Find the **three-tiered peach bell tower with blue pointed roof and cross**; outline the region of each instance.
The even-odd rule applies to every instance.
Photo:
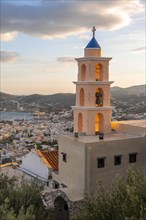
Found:
[[[74,111],[74,132],[86,135],[111,132],[109,61],[111,57],[101,56],[101,47],[93,37],[84,49],[84,57],[76,58],[78,62],[78,79],[76,85],[76,106]]]

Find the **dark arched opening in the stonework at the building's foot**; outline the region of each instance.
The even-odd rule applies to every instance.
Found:
[[[57,197],[54,201],[55,220],[69,220],[69,208],[67,202],[62,197]]]

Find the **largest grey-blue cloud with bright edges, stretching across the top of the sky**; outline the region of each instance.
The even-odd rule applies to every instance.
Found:
[[[4,36],[20,32],[40,38],[66,37],[85,33],[93,25],[97,30],[114,30],[129,25],[132,16],[144,10],[140,0],[35,2],[1,2]]]

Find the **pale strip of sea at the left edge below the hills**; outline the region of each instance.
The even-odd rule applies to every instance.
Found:
[[[33,116],[28,112],[4,112],[0,111],[0,121],[15,121],[15,120],[31,120]]]

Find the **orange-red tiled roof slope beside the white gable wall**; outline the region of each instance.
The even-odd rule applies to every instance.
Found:
[[[58,151],[35,151],[48,168],[58,170]]]

